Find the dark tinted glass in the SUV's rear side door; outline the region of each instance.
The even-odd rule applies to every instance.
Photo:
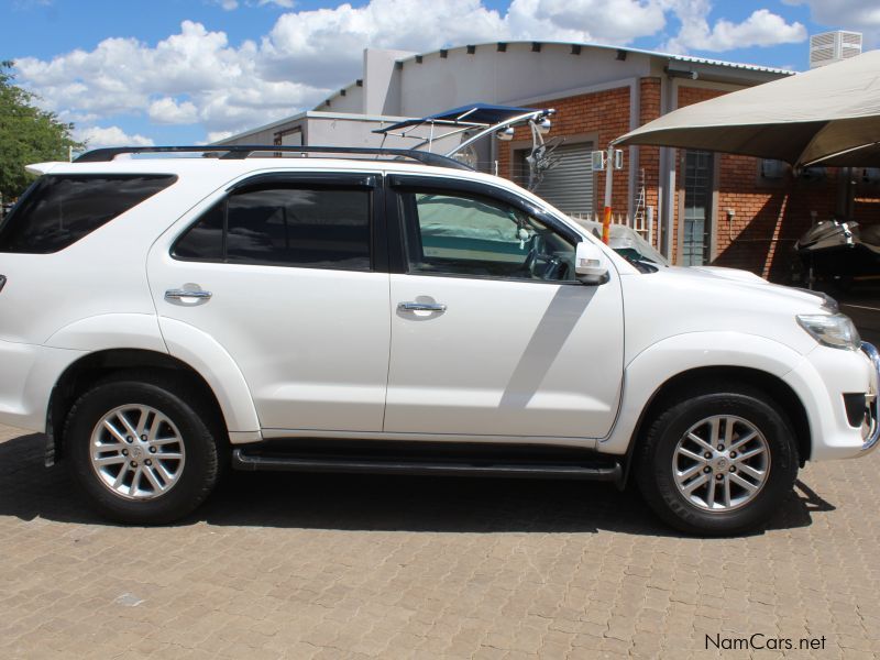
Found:
[[[174,248],[182,258],[370,268],[369,190],[262,187],[215,206]]]

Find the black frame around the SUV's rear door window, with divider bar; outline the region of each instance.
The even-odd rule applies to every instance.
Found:
[[[179,232],[176,233],[168,246],[168,256],[174,261],[193,262],[204,264],[223,264],[228,266],[260,266],[260,267],[276,267],[276,268],[308,268],[318,271],[344,271],[346,273],[375,273],[387,271],[387,242],[384,240],[385,233],[385,217],[382,212],[383,200],[383,186],[382,175],[375,172],[360,172],[360,173],[322,173],[322,172],[305,172],[305,173],[263,173],[249,176],[228,186],[223,190],[223,195],[213,200],[208,208],[202,210],[198,217],[187,222]],[[246,191],[249,188],[264,188],[277,185],[279,187],[288,187],[294,189],[314,189],[314,190],[365,190],[369,194],[367,211],[369,211],[369,228],[370,228],[370,266],[367,268],[343,268],[332,266],[316,266],[296,263],[280,263],[280,262],[244,262],[244,261],[230,261],[227,255],[227,238],[228,238],[228,207],[229,198],[237,194]],[[215,257],[197,257],[197,256],[179,256],[175,254],[175,249],[183,241],[189,231],[196,227],[201,220],[211,211],[217,208],[217,205],[223,204],[223,229],[222,229],[222,255],[220,258]]]

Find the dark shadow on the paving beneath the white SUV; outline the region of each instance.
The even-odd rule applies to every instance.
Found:
[[[0,516],[112,525],[98,517],[64,466],[43,466],[44,438],[0,443]],[[802,482],[771,529],[806,527],[834,510]],[[231,473],[178,525],[447,532],[595,532],[676,535],[634,488],[551,480]]]

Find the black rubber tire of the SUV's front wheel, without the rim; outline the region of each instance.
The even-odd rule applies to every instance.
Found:
[[[701,536],[741,534],[767,522],[791,492],[799,466],[792,427],[770,397],[745,384],[718,389],[692,388],[667,399],[649,420],[636,453],[636,479],[648,505],[672,527]],[[719,415],[741,418],[760,431],[769,448],[769,470],[757,495],[739,508],[707,510],[679,490],[673,461],[689,429]]]

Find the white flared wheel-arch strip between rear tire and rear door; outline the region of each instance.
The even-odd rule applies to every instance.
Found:
[[[260,440],[260,419],[251,391],[239,365],[226,349],[212,337],[188,323],[160,317],[158,324],[168,353],[199,372],[213,391],[223,411],[230,440],[233,443]]]

